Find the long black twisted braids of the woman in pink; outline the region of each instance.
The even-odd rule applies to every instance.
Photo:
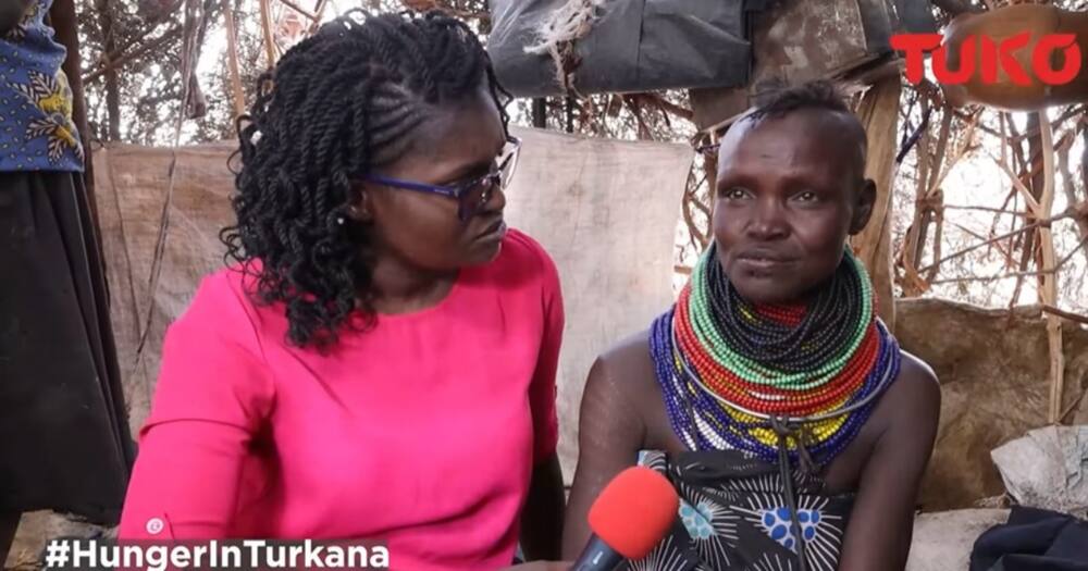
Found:
[[[356,310],[373,324],[373,238],[349,222],[351,181],[400,158],[436,107],[484,80],[505,129],[510,96],[468,26],[437,12],[361,10],[322,26],[258,79],[237,124],[237,224],[220,236],[228,259],[257,278],[258,300],[286,306],[288,343],[326,347]]]

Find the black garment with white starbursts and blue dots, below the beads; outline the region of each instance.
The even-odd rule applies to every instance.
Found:
[[[669,535],[631,571],[795,571],[801,569],[783,471],[738,450],[643,451],[639,464],[672,483],[680,513]],[[833,571],[852,494],[820,494],[820,479],[792,472],[796,523],[808,571]]]

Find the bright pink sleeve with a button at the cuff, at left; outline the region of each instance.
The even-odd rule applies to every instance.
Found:
[[[168,330],[162,355],[119,536],[227,537],[242,462],[273,390],[252,324],[225,281],[201,286]]]

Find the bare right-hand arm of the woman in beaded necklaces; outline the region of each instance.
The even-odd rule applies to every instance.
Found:
[[[940,386],[928,367],[904,356],[885,400],[891,419],[862,472],[840,571],[902,570],[911,550],[915,501],[937,437]]]

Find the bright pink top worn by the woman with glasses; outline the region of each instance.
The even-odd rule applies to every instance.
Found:
[[[119,535],[381,539],[393,569],[506,567],[555,452],[562,327],[552,259],[512,229],[438,305],[324,356],[220,271],[166,333]]]

